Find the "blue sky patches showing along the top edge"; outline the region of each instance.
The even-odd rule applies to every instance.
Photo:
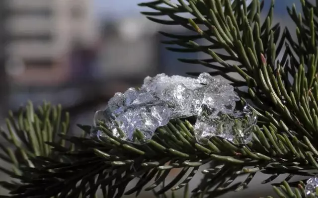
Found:
[[[95,10],[98,18],[100,17],[123,17],[129,15],[138,15],[145,8],[137,6],[137,3],[151,0],[94,0]],[[265,3],[270,0],[265,0]],[[287,15],[286,6],[293,2],[299,4],[300,0],[275,0],[275,14]],[[266,3],[268,4],[268,3]],[[300,11],[300,10],[299,10]]]

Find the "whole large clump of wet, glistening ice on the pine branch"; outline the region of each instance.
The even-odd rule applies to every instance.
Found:
[[[116,93],[106,109],[96,112],[94,123],[104,122],[114,136],[127,141],[136,142],[138,134],[138,142],[143,142],[171,119],[197,116],[194,132],[199,142],[218,135],[247,143],[256,117],[248,107],[234,111],[236,101],[234,87],[208,73],[198,78],[161,73],[146,77],[140,89]]]

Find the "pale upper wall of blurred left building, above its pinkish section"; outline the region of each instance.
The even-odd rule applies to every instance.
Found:
[[[82,12],[78,18],[72,16],[76,6]],[[12,13],[8,15],[5,28],[10,36],[48,33],[52,34],[52,39],[8,41],[7,55],[15,54],[21,59],[36,56],[57,59],[69,52],[74,39],[92,44],[96,39],[92,9],[92,0],[9,0],[8,10]],[[41,10],[51,10],[52,14],[36,14]],[[30,14],[32,11],[34,14]]]

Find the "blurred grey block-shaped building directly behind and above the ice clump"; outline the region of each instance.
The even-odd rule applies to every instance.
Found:
[[[156,27],[143,17],[108,21],[103,27],[96,77],[138,79],[156,73]]]

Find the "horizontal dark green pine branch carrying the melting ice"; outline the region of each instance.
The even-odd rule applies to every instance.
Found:
[[[92,130],[89,126],[79,127],[87,133]],[[76,145],[75,151],[49,143],[63,161],[30,157],[30,161],[38,166],[22,170],[32,177],[20,177],[21,183],[11,191],[11,197],[85,197],[95,195],[99,188],[107,198],[138,195],[143,189],[151,191],[160,187],[172,169],[181,168],[172,182],[156,191],[156,195],[160,195],[171,188],[183,188],[201,165],[212,161],[214,166],[203,171],[208,180],[192,193],[195,197],[202,196],[202,192],[217,197],[227,191],[244,189],[259,170],[271,175],[278,171],[304,175],[307,170],[316,169],[315,163],[310,165],[309,160],[318,151],[306,141],[306,137],[307,144],[304,144],[296,136],[289,138],[286,134],[278,134],[274,126],[269,129],[264,127],[265,133],[257,127],[253,143],[244,146],[218,137],[210,139],[207,145],[200,145],[195,140],[192,125],[181,120],[161,127],[152,140],[142,145],[114,137],[104,125],[98,130],[107,136],[97,142],[86,137],[60,135]],[[247,168],[250,166],[254,168]],[[243,174],[248,174],[246,181],[233,184],[234,179]],[[154,178],[155,182],[149,185]],[[139,179],[139,182],[125,191],[133,179]]]

